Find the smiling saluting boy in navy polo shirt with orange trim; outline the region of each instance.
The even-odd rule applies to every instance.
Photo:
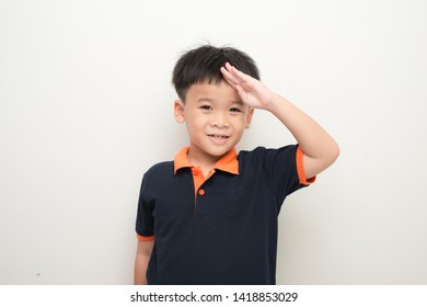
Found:
[[[281,204],[335,161],[336,143],[234,48],[187,52],[173,83],[189,146],[143,175],[135,284],[275,284]],[[238,156],[254,109],[275,115],[298,145]]]

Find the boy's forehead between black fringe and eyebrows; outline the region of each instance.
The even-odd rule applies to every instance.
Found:
[[[186,101],[242,103],[238,91],[226,81],[219,83],[201,82],[193,84],[187,91]]]

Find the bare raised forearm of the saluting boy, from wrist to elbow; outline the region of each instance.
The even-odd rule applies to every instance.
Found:
[[[335,140],[313,118],[287,99],[275,94],[270,111],[293,135],[307,158],[316,160],[314,175],[332,164],[339,155]]]

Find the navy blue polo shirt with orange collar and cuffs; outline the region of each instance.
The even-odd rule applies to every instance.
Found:
[[[187,151],[142,179],[136,231],[154,240],[148,283],[275,284],[281,204],[314,181],[305,179],[302,150],[233,149],[206,179]]]

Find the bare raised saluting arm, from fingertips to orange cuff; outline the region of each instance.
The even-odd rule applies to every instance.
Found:
[[[336,160],[339,155],[337,144],[309,115],[230,64],[226,64],[221,72],[243,103],[272,112],[289,129],[304,152],[302,160],[307,178],[319,174]]]

